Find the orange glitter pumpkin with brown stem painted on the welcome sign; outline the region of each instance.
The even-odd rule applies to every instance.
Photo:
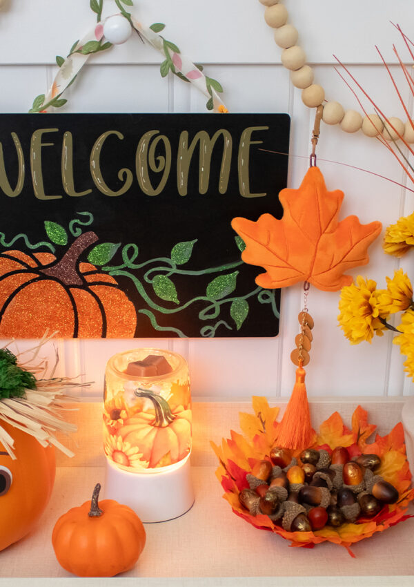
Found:
[[[0,338],[132,338],[137,313],[117,281],[79,256],[97,235],[81,234],[60,260],[52,253],[0,254]]]

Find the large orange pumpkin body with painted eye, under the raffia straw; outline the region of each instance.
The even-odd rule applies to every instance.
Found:
[[[0,443],[0,550],[26,536],[43,514],[55,482],[55,448],[1,422],[14,439],[14,454]]]

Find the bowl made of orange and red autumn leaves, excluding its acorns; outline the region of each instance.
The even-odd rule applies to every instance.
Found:
[[[230,439],[223,439],[221,447],[211,443],[217,458],[217,479],[224,489],[224,499],[230,503],[233,512],[260,530],[269,530],[290,540],[290,546],[313,548],[321,542],[332,542],[346,548],[351,556],[353,543],[371,537],[375,532],[383,532],[408,517],[408,503],[414,499],[411,489],[411,472],[406,458],[404,430],[398,423],[389,434],[376,434],[375,440],[368,443],[368,438],[375,432],[376,425],[368,423],[368,415],[358,406],[352,416],[351,430],[344,425],[338,412],[332,414],[315,433],[309,448],[324,449],[330,454],[337,446],[346,447],[351,458],[361,454],[377,454],[381,465],[375,474],[394,485],[399,493],[396,503],[384,504],[375,517],[359,517],[354,523],[346,522],[341,526],[324,526],[313,532],[288,532],[282,528],[280,521],[274,522],[267,515],[258,513],[253,516],[239,501],[239,493],[249,488],[248,474],[263,459],[270,461],[270,450],[275,445],[277,416],[279,407],[269,407],[266,398],[253,397],[255,414],[240,413],[242,434],[230,431]],[[300,451],[293,452],[298,456]]]

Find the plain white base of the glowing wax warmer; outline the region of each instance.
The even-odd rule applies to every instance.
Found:
[[[104,497],[129,506],[143,522],[162,522],[182,516],[193,506],[190,455],[145,473],[130,473],[106,461]]]

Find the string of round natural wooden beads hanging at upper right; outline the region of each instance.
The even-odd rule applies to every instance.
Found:
[[[259,0],[259,2],[266,6],[264,11],[266,23],[276,29],[274,34],[276,44],[284,49],[281,56],[282,64],[290,70],[293,86],[302,89],[302,102],[309,108],[319,106],[325,99],[324,88],[313,84],[313,69],[305,63],[304,50],[296,45],[298,32],[293,25],[286,24],[288,11],[283,4],[279,4],[279,0]],[[325,104],[322,119],[326,124],[340,124],[346,133],[356,133],[359,128],[362,128],[362,132],[367,137],[376,137],[382,133],[382,137],[387,141],[395,141],[402,136],[407,143],[414,143],[414,128],[409,120],[404,124],[397,117],[389,117],[384,125],[376,114],[362,117],[356,110],[344,112],[339,102]]]

